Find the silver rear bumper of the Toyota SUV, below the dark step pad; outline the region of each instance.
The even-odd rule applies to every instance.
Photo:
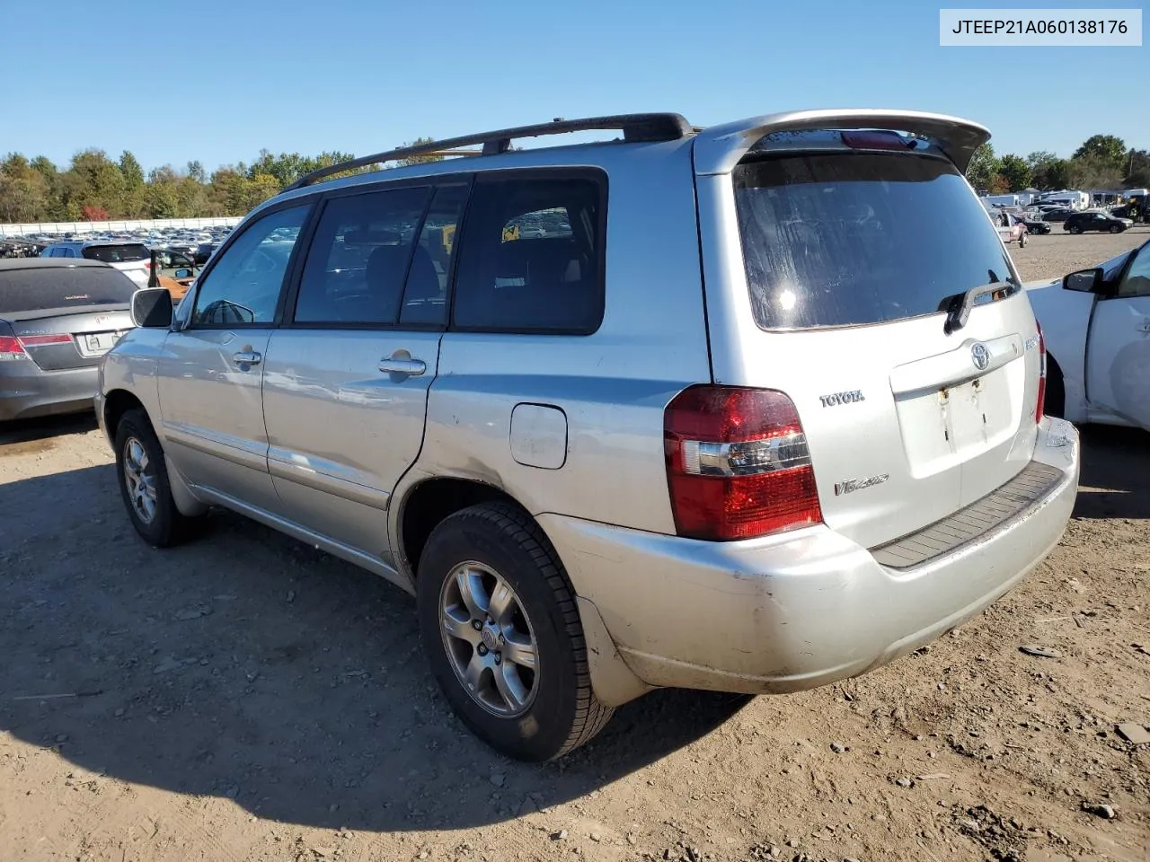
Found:
[[[1051,490],[987,534],[913,568],[826,526],[705,542],[557,515],[539,523],[582,600],[644,683],[787,692],[858,676],[974,616],[1053,548],[1078,492],[1072,425],[1044,420]]]

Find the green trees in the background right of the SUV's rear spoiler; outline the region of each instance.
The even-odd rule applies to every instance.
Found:
[[[966,178],[980,194],[1006,194],[1023,188],[1145,188],[1150,187],[1150,152],[1127,147],[1113,134],[1094,134],[1070,159],[1038,151],[1025,159],[1013,153],[995,155],[990,144],[979,147]]]

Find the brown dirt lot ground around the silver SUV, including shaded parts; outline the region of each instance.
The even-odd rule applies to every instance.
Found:
[[[1148,233],[1056,230],[1026,278]],[[227,513],[152,551],[110,461],[86,417],[0,431],[6,862],[1150,859],[1150,746],[1116,733],[1150,722],[1144,433],[1086,430],[1064,541],[952,637],[805,694],[657,692],[542,767],[450,715],[400,591]]]

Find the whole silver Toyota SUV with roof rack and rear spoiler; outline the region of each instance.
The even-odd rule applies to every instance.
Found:
[[[136,294],[97,399],[128,513],[166,546],[224,506],[409,591],[447,700],[515,757],[656,686],[864,674],[1006,592],[1074,503],[963,178],[988,137],[632,115],[317,171],[175,313]]]

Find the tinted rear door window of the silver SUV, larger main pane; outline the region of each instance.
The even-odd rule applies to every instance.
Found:
[[[296,301],[296,323],[393,324],[427,186],[334,198],[323,208]]]

